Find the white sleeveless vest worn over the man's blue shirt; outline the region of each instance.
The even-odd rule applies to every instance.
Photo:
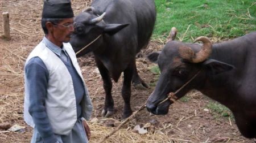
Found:
[[[79,73],[79,76],[84,83],[79,64],[77,63],[76,54],[73,51],[72,46],[69,43],[63,43],[63,48],[67,51],[73,66],[76,68],[77,73]],[[77,121],[75,91],[68,68],[61,59],[53,53],[53,51],[46,47],[43,42],[40,42],[40,44],[32,50],[26,60],[25,66],[28,60],[33,57],[39,57],[42,59],[49,72],[45,106],[53,132],[58,135],[68,135]],[[28,125],[34,127],[34,122],[28,112],[28,107],[30,106],[30,95],[28,94],[28,87],[26,83],[27,79],[25,77],[24,120]],[[85,83],[84,87],[86,96],[84,96],[81,101],[82,117],[89,120],[92,114],[92,102]]]

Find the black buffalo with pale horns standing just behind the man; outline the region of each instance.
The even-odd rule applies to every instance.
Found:
[[[156,19],[153,0],[94,0],[75,18],[71,45],[77,57],[93,52],[104,81],[106,94],[102,116],[114,114],[112,79],[117,82],[123,72],[123,118],[131,115],[131,81],[147,87],[139,77],[135,55],[146,47]],[[88,45],[86,49],[82,47]]]

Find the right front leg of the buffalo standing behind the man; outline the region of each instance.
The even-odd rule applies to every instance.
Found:
[[[133,77],[133,65],[129,65],[123,72],[122,97],[125,105],[123,107],[123,118],[128,118],[133,111],[131,110],[131,79]]]

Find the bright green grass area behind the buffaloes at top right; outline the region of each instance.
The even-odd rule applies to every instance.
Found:
[[[256,31],[255,0],[155,0],[155,3],[153,38],[168,36],[171,27],[178,30],[176,39],[187,42],[199,36],[227,39]]]

